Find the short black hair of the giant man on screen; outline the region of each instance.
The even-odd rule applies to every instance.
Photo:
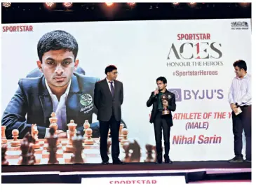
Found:
[[[37,54],[41,62],[45,52],[62,49],[72,51],[76,59],[79,45],[74,36],[63,30],[50,31],[44,34],[37,43]]]

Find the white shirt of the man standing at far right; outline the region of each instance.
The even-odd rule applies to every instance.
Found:
[[[229,103],[238,106],[252,105],[251,76],[246,73],[243,78],[235,77],[229,89]]]

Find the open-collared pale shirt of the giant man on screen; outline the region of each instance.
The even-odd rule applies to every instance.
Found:
[[[58,118],[57,124],[58,129],[62,130],[65,128],[67,124],[67,111],[66,111],[66,101],[67,101],[67,95],[69,94],[69,89],[71,85],[71,80],[69,81],[69,85],[67,86],[67,90],[62,96],[60,96],[60,101],[58,101],[58,98],[53,92],[50,90],[50,87],[46,81],[46,87],[50,94],[50,98],[53,102],[53,112],[55,112],[56,117]],[[46,128],[46,136],[48,135],[49,128]]]

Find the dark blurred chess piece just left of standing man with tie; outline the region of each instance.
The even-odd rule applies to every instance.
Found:
[[[75,164],[83,164],[83,136],[81,136],[80,131],[76,132],[76,135],[72,138],[74,155],[72,155],[71,162]]]

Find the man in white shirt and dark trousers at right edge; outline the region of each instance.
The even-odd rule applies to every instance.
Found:
[[[233,64],[236,77],[232,80],[229,90],[229,104],[232,112],[234,152],[235,157],[229,162],[243,162],[242,133],[245,132],[246,139],[246,159],[251,162],[251,131],[252,131],[252,88],[251,76],[247,73],[247,66],[243,60],[238,60]],[[238,114],[239,108],[241,113]]]

